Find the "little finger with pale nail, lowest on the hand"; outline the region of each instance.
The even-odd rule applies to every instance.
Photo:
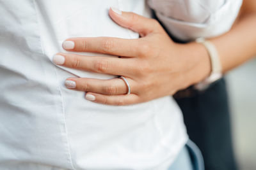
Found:
[[[101,104],[123,106],[128,104],[140,103],[140,97],[136,94],[107,96],[103,94],[86,93],[85,98],[89,101]]]

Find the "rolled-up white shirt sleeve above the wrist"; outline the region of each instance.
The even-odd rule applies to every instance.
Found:
[[[157,18],[175,38],[211,38],[230,30],[243,0],[147,0]]]

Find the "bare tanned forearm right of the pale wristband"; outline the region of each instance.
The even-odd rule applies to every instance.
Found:
[[[223,36],[210,39],[220,55],[223,73],[242,64],[256,54],[256,13],[241,16],[237,24]]]

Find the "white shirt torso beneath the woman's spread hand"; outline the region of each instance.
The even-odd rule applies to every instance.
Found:
[[[163,169],[185,145],[170,96],[107,106],[64,87],[70,76],[113,78],[55,66],[65,39],[138,38],[109,6],[146,11],[142,0],[0,0],[0,169]]]

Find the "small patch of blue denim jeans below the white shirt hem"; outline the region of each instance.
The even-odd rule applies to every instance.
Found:
[[[204,170],[204,159],[199,148],[192,141],[180,151],[168,170]]]

